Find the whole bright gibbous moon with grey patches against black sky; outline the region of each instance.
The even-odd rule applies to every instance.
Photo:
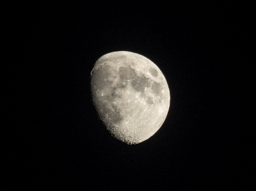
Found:
[[[93,105],[116,139],[138,144],[163,125],[170,90],[147,57],[127,51],[105,54],[93,66],[90,80]]]

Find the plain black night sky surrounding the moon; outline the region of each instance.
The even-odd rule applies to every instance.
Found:
[[[3,6],[9,186],[255,189],[252,4],[93,2]],[[156,63],[171,93],[163,126],[136,145],[111,137],[90,96],[95,61],[120,50]]]

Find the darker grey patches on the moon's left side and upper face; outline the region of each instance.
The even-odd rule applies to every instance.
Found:
[[[116,59],[121,59],[122,61],[127,60],[126,56],[116,56],[114,57],[114,59],[109,57],[108,59],[112,63],[115,63]],[[102,61],[106,61],[106,59]],[[149,72],[154,77],[158,76],[158,72],[154,68],[150,68]],[[120,78],[120,82],[115,84],[115,86],[113,86],[113,76],[115,77],[115,79],[118,77]],[[163,98],[163,94],[161,93],[161,89],[163,87],[161,83],[145,77],[144,74],[139,76],[136,73],[136,70],[134,70],[134,68],[132,68],[131,65],[129,64],[125,66],[120,66],[117,71],[112,66],[104,64],[98,65],[97,68],[93,68],[92,70],[91,91],[95,109],[100,119],[104,122],[104,125],[106,125],[106,127],[108,128],[108,130],[112,134],[114,134],[117,139],[127,143],[129,143],[129,140],[120,139],[120,134],[118,135],[118,133],[115,132],[115,130],[113,131],[111,129],[120,125],[120,123],[122,123],[122,121],[124,120],[124,116],[120,114],[121,109],[119,109],[118,107],[116,107],[116,105],[113,104],[113,101],[116,100],[116,98],[122,99],[122,94],[116,93],[116,90],[125,89],[129,85],[132,87],[132,89],[134,89],[134,91],[140,92],[141,95],[146,97],[148,105],[152,105],[154,104],[154,102],[150,96],[144,94],[146,87],[151,88],[154,95],[159,96],[159,100]],[[107,93],[106,95],[104,94],[104,96],[100,95],[100,93],[102,93],[102,90],[106,87],[108,87],[109,93]]]

